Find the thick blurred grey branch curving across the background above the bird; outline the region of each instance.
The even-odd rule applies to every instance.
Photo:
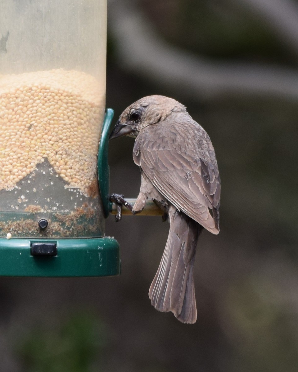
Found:
[[[118,61],[135,74],[195,99],[227,93],[298,99],[298,73],[294,69],[213,62],[172,47],[156,35],[133,1],[110,0],[109,16]]]

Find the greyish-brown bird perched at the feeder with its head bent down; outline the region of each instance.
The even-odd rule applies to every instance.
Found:
[[[148,96],[120,115],[110,139],[136,138],[133,160],[141,187],[133,212],[152,199],[169,217],[169,235],[149,289],[152,305],[183,323],[197,319],[193,266],[203,228],[218,234],[221,184],[206,131],[176,100]]]

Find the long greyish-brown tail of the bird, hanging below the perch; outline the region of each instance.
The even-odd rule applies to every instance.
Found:
[[[183,323],[197,320],[193,265],[202,226],[169,208],[169,236],[157,273],[149,289],[152,305],[159,311],[171,311]]]

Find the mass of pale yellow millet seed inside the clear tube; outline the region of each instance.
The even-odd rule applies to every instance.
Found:
[[[11,190],[47,158],[88,195],[104,115],[102,84],[71,70],[0,76],[0,190]]]

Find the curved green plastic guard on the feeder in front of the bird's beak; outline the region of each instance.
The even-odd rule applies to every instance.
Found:
[[[111,203],[109,200],[110,189],[110,167],[108,165],[108,143],[109,131],[114,116],[114,110],[107,109],[105,113],[104,123],[102,124],[101,139],[99,142],[97,170],[98,170],[98,183],[101,194],[102,205],[104,208],[104,216],[108,217],[111,210]]]

